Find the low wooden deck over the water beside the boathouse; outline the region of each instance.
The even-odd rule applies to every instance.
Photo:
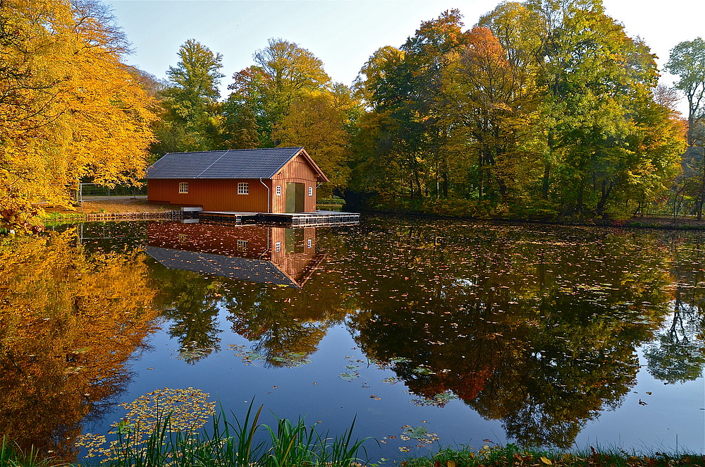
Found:
[[[316,211],[316,212],[232,212],[232,211],[202,211],[200,219],[214,219],[236,222],[274,222],[290,226],[330,226],[352,225],[360,222],[359,212]]]

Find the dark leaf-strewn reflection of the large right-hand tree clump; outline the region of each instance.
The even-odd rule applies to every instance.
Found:
[[[393,369],[415,394],[450,390],[520,444],[570,447],[635,384],[635,349],[673,298],[668,258],[617,231],[468,230],[409,228],[358,250],[396,252],[386,255],[396,267],[351,320],[357,342],[376,360],[403,358]]]

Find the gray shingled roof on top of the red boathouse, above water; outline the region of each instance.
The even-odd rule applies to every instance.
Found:
[[[169,152],[147,169],[147,178],[271,178],[302,149]]]

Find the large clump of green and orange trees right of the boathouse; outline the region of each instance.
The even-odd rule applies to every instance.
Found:
[[[446,11],[362,67],[350,186],[387,209],[628,216],[684,147],[657,79],[600,0],[503,3],[465,31]]]

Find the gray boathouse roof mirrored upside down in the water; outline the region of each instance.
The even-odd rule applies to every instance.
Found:
[[[250,260],[242,257],[228,257],[211,255],[209,253],[196,253],[171,248],[144,246],[145,253],[161,262],[169,269],[182,269],[184,271],[212,274],[214,276],[240,279],[261,284],[276,284],[300,289],[290,277],[271,261]]]

